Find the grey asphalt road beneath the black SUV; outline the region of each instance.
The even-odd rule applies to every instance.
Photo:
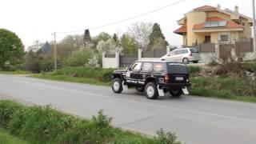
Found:
[[[186,144],[255,144],[256,104],[169,96],[149,100],[135,90],[114,94],[110,87],[0,74],[0,97],[90,118],[98,110],[114,118],[114,126],[155,134],[171,130]]]

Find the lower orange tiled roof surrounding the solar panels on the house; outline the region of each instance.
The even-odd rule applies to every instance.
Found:
[[[206,18],[206,22],[219,22],[219,21],[224,21],[222,18],[218,18],[218,17],[210,17],[210,18]],[[196,24],[193,26],[193,30],[202,30],[202,29],[209,29],[204,27],[205,26],[205,22],[204,23],[200,23],[200,24]],[[210,27],[210,29],[212,28],[225,28],[225,29],[235,29],[235,28],[242,28],[242,25],[239,25],[238,23],[232,22],[232,21],[226,21],[226,26],[222,26],[222,27]]]

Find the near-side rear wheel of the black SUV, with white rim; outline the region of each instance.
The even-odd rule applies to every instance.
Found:
[[[146,94],[146,98],[149,98],[149,99],[156,99],[156,98],[158,98],[158,89],[155,86],[154,82],[146,83],[145,94]]]

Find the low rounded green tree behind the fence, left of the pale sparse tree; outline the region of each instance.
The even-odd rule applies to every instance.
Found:
[[[133,37],[128,34],[123,34],[121,38],[122,52],[124,54],[137,54],[138,45]]]

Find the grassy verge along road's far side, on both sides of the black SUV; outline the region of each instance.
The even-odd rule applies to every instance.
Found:
[[[201,69],[197,66],[189,66],[190,73],[198,73]],[[56,72],[33,74],[31,77],[58,80],[64,82],[88,83],[98,86],[110,86],[113,69],[66,67]],[[248,78],[222,77],[195,77],[190,78],[192,86],[190,94],[209,98],[223,98],[242,102],[256,102],[253,95],[256,92],[256,84],[247,85]]]

